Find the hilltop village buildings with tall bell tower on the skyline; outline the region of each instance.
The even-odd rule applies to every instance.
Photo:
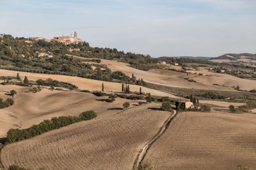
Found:
[[[65,45],[70,45],[70,44],[78,44],[78,43],[83,43],[83,40],[80,38],[77,38],[77,32],[74,32],[74,37],[72,36],[58,36],[58,37],[54,37],[53,39],[45,39],[45,38],[40,38],[40,37],[36,37],[33,38],[35,41],[38,40],[44,40],[47,42],[50,42],[52,40],[54,41],[58,41],[60,43],[64,43]]]

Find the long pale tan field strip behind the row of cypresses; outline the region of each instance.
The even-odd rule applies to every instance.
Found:
[[[0,75],[1,76],[16,76],[18,71],[10,71],[10,70],[4,70],[0,69]],[[76,76],[63,76],[63,75],[54,75],[54,74],[39,74],[39,73],[27,73],[27,72],[21,72],[19,71],[20,77],[22,80],[24,79],[24,76],[28,76],[28,80],[38,80],[43,79],[46,80],[47,78],[52,78],[53,80],[58,81],[64,81],[68,83],[75,84],[79,89],[82,90],[101,90],[101,85],[104,83],[104,90],[106,92],[122,92],[122,83],[113,83],[113,82],[107,82],[107,81],[99,81],[99,80],[92,80],[88,78],[79,78]],[[139,92],[140,86],[139,85],[129,85],[130,90],[132,92]],[[141,87],[142,91],[145,93],[150,92],[152,95],[155,96],[169,96],[173,98],[179,98],[176,96],[173,96],[172,94],[161,92],[154,89],[148,89],[146,87]]]

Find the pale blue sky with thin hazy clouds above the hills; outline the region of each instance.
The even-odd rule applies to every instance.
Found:
[[[0,0],[0,33],[161,56],[256,53],[255,0]]]

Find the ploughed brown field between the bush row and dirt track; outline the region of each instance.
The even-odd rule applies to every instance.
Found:
[[[152,103],[111,117],[96,118],[4,146],[5,167],[38,169],[132,169],[140,149],[159,131],[170,112]]]

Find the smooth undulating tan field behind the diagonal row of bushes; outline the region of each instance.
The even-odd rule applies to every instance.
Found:
[[[6,89],[14,89],[17,95],[14,96],[13,106],[3,108],[0,111],[0,138],[6,136],[11,128],[18,128],[20,122],[22,129],[33,124],[39,124],[45,119],[60,116],[79,115],[83,111],[96,111],[98,117],[107,117],[118,113],[123,108],[125,101],[131,100],[117,98],[113,103],[107,103],[104,99],[108,96],[97,97],[93,94],[74,91],[57,91],[43,89],[41,92],[26,92],[32,87],[19,87],[17,85],[0,85],[0,98],[3,98]],[[8,96],[12,98],[11,96]],[[138,104],[138,102],[131,103]]]

